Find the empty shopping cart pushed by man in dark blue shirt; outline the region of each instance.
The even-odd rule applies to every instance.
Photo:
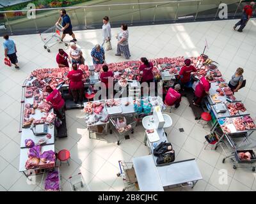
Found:
[[[63,31],[61,31],[63,27],[58,24],[50,27],[43,33],[40,33],[40,37],[44,43],[44,48],[47,49],[48,52],[51,52],[50,48],[57,43],[64,43],[61,41],[61,34]],[[68,43],[65,43],[65,46],[68,46]]]

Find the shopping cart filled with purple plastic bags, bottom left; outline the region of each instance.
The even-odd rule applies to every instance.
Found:
[[[41,188],[43,191],[61,191],[61,174],[60,168],[56,167],[52,170],[45,170]]]

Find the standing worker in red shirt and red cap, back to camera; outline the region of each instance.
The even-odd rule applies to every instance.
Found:
[[[196,72],[195,66],[191,65],[191,60],[186,59],[184,61],[185,66],[183,66],[180,69],[180,85],[182,87],[182,90],[184,90],[184,87],[189,87],[189,84],[191,82],[191,73]]]

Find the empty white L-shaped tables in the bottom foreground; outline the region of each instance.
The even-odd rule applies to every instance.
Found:
[[[192,182],[194,187],[202,175],[195,159],[178,161],[166,166],[156,166],[152,156],[132,159],[140,191],[163,191]]]

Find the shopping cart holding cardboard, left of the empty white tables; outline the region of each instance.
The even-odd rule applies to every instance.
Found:
[[[124,189],[123,191],[127,189],[134,189],[136,188],[137,190],[139,189],[138,182],[136,179],[136,173],[133,168],[133,163],[132,162],[125,162],[125,161],[118,161],[120,172],[117,173],[116,175],[118,177],[122,177],[123,182],[124,182]]]

